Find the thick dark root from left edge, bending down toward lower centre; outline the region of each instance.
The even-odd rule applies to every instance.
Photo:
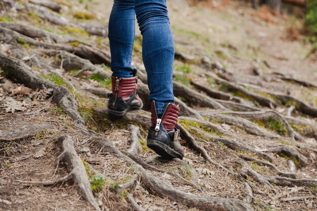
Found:
[[[5,72],[5,76],[13,81],[23,83],[31,89],[53,89],[53,101],[70,115],[77,123],[84,124],[85,121],[78,113],[77,102],[71,93],[63,86],[56,86],[51,81],[45,80],[32,72],[32,69],[18,59],[8,57],[0,51],[0,67]]]

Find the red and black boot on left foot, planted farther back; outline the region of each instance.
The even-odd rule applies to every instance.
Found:
[[[133,75],[136,74],[136,71]],[[111,76],[112,93],[109,94],[108,112],[123,116],[127,111],[141,109],[143,102],[136,94],[138,76],[118,78]]]

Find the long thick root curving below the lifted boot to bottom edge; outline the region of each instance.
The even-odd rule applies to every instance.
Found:
[[[221,210],[221,211],[251,211],[253,210],[249,204],[232,198],[216,198],[216,197],[204,197],[196,196],[191,193],[185,193],[179,190],[176,190],[171,185],[160,180],[159,178],[154,177],[150,173],[147,173],[141,165],[138,165],[133,160],[126,157],[115,146],[107,139],[93,139],[94,143],[100,148],[102,147],[104,151],[114,154],[117,157],[126,160],[130,164],[134,165],[138,171],[143,185],[150,190],[152,193],[155,193],[161,197],[168,197],[177,202],[183,203],[190,207],[196,207],[202,210]]]

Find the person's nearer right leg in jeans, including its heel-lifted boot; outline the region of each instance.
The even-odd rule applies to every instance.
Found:
[[[175,128],[179,107],[172,104],[174,41],[166,0],[134,0],[142,41],[142,57],[147,72],[152,126],[147,146],[164,158],[182,159],[184,150]]]

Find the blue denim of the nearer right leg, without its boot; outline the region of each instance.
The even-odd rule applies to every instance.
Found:
[[[166,0],[135,0],[135,13],[143,36],[142,57],[147,72],[150,101],[157,114],[174,101],[174,40]]]

